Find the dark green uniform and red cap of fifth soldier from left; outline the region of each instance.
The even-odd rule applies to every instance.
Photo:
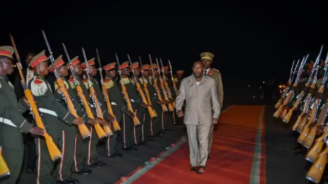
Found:
[[[92,59],[90,59],[90,60],[87,61],[89,66],[94,66],[95,65],[94,59],[95,58],[92,58]],[[86,67],[86,63],[85,62],[82,63],[81,66],[85,68]],[[89,75],[89,77],[90,77],[90,83],[91,83],[91,85],[93,85],[94,90],[96,91],[97,99],[99,101],[100,108],[101,108],[101,113],[103,113],[104,119],[107,120],[107,118],[109,116],[109,113],[107,111],[107,107],[106,107],[106,104],[105,104],[105,99],[104,99],[104,96],[103,96],[103,92],[101,91],[101,88],[99,87],[98,82],[92,76]],[[89,90],[90,86],[89,86],[89,82],[88,82],[88,78],[87,77],[83,80],[83,83],[86,86],[86,88]],[[89,100],[91,100],[91,98]],[[96,110],[94,109],[94,111],[96,111]],[[113,131],[113,128],[112,128],[112,131]],[[92,132],[92,135],[95,135],[95,134]],[[97,162],[97,144],[99,142],[99,139],[98,139],[97,136],[92,136],[92,135],[90,137],[90,143],[89,143],[89,147],[91,146],[91,148],[89,148],[90,149],[89,152],[91,154],[88,154],[88,156],[89,156],[89,158],[88,158],[88,165],[99,165],[99,164],[105,165],[104,163]],[[109,144],[108,141],[109,140],[107,139],[106,140],[106,142],[107,142],[106,145]],[[92,150],[92,152],[91,152],[91,150]]]

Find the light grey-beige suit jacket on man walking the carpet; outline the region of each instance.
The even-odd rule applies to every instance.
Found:
[[[175,99],[176,111],[181,110],[185,100],[185,124],[212,124],[212,118],[219,118],[221,108],[213,78],[203,76],[199,85],[194,75],[182,79]]]

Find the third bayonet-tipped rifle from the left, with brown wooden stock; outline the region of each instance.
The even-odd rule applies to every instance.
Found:
[[[68,55],[68,52],[67,52],[67,49],[66,49],[64,43],[63,43],[63,47],[64,47],[64,51],[65,51],[65,54],[66,54],[67,59],[69,61],[71,61],[70,56]],[[74,81],[76,93],[77,93],[77,96],[79,97],[80,103],[83,105],[83,107],[84,107],[84,109],[85,109],[85,111],[87,113],[87,116],[89,118],[91,118],[91,119],[95,119],[94,116],[93,116],[91,107],[90,107],[90,105],[88,103],[88,100],[87,100],[86,96],[83,93],[83,89],[81,88],[81,86],[77,82],[77,78],[76,78],[76,76],[74,74],[74,68],[73,68],[73,66],[71,65],[70,62],[69,62],[69,68],[70,68],[71,74],[73,76],[73,81]],[[105,133],[104,129],[101,128],[101,126],[99,124],[95,124],[95,125],[93,125],[93,127],[94,127],[94,129],[96,131],[96,134],[97,134],[99,140],[101,140],[104,137],[106,137],[106,133]]]

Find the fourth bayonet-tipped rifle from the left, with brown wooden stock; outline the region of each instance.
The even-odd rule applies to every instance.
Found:
[[[95,91],[95,89],[93,87],[93,84],[90,81],[90,76],[89,76],[89,63],[88,63],[88,60],[87,60],[86,52],[84,51],[83,48],[82,48],[82,52],[83,52],[84,60],[86,62],[86,66],[87,66],[86,73],[87,73],[87,79],[88,79],[88,84],[89,84],[89,88],[90,88],[91,99],[92,99],[93,105],[95,106],[97,117],[100,118],[100,119],[104,119],[104,117],[103,117],[103,111],[100,108],[99,101],[98,101],[98,98],[97,98],[97,95],[96,95],[96,91]],[[113,134],[111,128],[108,125],[104,125],[103,126],[103,129],[104,129],[105,134],[107,136],[110,136],[110,135]]]

